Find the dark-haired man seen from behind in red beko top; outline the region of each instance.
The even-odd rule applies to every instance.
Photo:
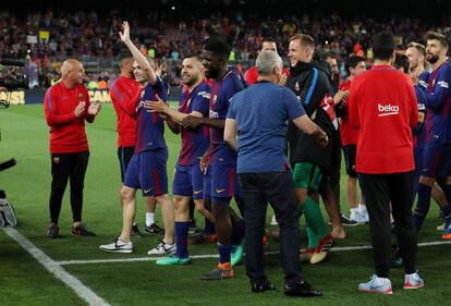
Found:
[[[416,272],[416,230],[412,220],[412,128],[418,123],[413,84],[395,71],[391,33],[374,37],[375,65],[351,84],[350,123],[359,130],[356,171],[369,215],[376,273],[359,291],[392,294],[389,277],[390,205],[404,264],[404,289],[424,286]]]

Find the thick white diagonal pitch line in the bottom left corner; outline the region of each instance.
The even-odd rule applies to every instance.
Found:
[[[84,285],[77,278],[65,271],[59,262],[51,259],[40,248],[34,245],[29,240],[24,237],[17,230],[13,228],[2,228],[3,231],[28,252],[40,265],[51,272],[57,279],[61,280],[65,285],[71,287],[83,298],[88,305],[109,306],[103,298],[95,294],[88,286]]]

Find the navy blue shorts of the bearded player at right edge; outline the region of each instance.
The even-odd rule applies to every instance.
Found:
[[[451,175],[451,145],[425,144],[422,175],[435,179]]]

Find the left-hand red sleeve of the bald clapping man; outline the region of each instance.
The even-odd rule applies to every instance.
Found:
[[[44,112],[46,114],[46,121],[49,126],[62,126],[71,123],[75,120],[75,112],[59,113],[58,106],[60,99],[58,95],[58,88],[56,86],[47,89],[46,97],[44,98]]]

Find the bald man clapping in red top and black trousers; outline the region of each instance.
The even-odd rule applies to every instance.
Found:
[[[50,225],[47,236],[58,237],[58,218],[68,180],[71,180],[72,234],[95,235],[82,224],[83,186],[89,159],[85,120],[94,122],[100,106],[89,102],[83,86],[85,72],[77,60],[64,61],[62,79],[50,87],[44,100],[47,124],[50,126],[51,193]]]

